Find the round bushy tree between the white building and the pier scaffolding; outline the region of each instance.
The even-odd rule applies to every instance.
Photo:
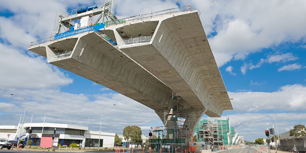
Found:
[[[124,136],[124,139],[126,141],[130,140],[131,143],[142,142],[142,131],[141,128],[138,126],[126,126],[123,129],[122,135]]]

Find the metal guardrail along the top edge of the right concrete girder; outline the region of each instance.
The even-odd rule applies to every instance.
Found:
[[[122,18],[122,19],[118,19],[118,20],[112,20],[112,21],[108,22],[109,23],[108,26],[117,25],[117,24],[129,22],[129,21],[145,20],[145,19],[150,19],[152,17],[158,17],[158,16],[167,15],[167,14],[175,14],[175,13],[178,13],[178,12],[186,12],[186,11],[191,11],[190,6],[170,8],[170,9],[166,9],[166,10],[163,10],[163,11],[141,14],[141,15],[126,17],[126,18]]]

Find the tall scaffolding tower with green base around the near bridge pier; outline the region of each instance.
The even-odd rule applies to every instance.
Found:
[[[151,127],[150,146],[155,151],[185,152],[190,146],[189,110],[182,103],[182,98],[172,92],[172,105],[164,110],[165,126]]]

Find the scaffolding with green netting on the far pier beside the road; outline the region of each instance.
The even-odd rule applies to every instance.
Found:
[[[205,142],[205,145],[224,146],[230,145],[229,118],[225,120],[202,120],[196,129],[197,141]]]

